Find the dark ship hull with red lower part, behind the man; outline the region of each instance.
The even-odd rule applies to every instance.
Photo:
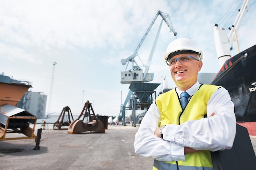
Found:
[[[236,121],[256,136],[256,45],[227,60],[211,84],[229,91]]]

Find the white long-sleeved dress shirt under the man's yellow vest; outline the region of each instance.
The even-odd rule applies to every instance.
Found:
[[[198,91],[197,82],[186,92]],[[183,91],[176,88],[178,95]],[[214,116],[210,115],[215,113]],[[193,114],[193,113],[191,113]],[[234,104],[228,91],[221,87],[213,93],[207,104],[207,118],[186,121],[184,124],[166,125],[163,139],[154,135],[161,122],[161,113],[155,102],[151,104],[135,135],[135,152],[158,161],[185,161],[184,147],[195,150],[230,149],[236,135]]]

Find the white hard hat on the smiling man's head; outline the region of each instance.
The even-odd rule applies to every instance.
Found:
[[[164,55],[164,62],[169,59],[171,59],[173,56],[182,54],[182,53],[193,53],[196,52],[199,54],[200,60],[203,59],[203,53],[198,49],[197,46],[195,46],[195,43],[187,38],[179,38],[171,42],[167,49],[166,54]]]

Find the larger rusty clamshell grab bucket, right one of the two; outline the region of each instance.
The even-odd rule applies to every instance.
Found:
[[[83,119],[79,120],[82,116]],[[101,120],[97,119],[92,104],[89,101],[83,106],[79,117],[70,124],[67,133],[78,134],[87,131],[105,133],[104,125]]]

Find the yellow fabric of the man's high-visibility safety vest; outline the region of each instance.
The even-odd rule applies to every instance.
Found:
[[[183,124],[189,120],[199,120],[203,118],[204,115],[207,114],[207,103],[211,95],[218,88],[220,88],[220,86],[202,85],[191,97],[189,104],[186,106],[183,112],[175,89],[159,95],[156,98],[156,104],[161,112],[160,126],[165,126],[167,124]],[[176,166],[176,161],[166,163]],[[164,163],[161,163],[160,165],[162,164]],[[208,167],[212,170],[213,167],[211,162],[211,154],[208,150],[187,154],[186,161],[178,161],[178,165],[179,167],[182,166],[182,169],[188,170],[191,170],[192,167]],[[163,167],[160,169],[162,168]]]

